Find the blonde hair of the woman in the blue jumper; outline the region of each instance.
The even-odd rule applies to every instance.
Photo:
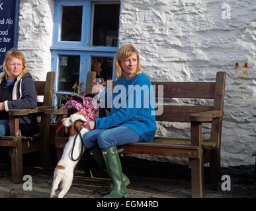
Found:
[[[122,67],[120,65],[121,61],[124,61],[125,59],[130,57],[132,55],[132,53],[137,54],[137,67],[136,67],[136,71],[134,72],[133,76],[138,75],[138,73],[140,73],[140,71],[142,71],[142,67],[140,67],[140,57],[139,57],[138,50],[131,44],[123,45],[116,52],[116,58],[115,58],[116,78],[122,77],[122,74],[123,74]]]

